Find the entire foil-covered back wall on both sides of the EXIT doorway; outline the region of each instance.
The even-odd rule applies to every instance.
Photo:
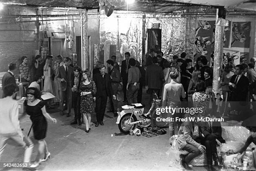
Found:
[[[110,45],[115,45],[115,55],[119,63],[124,60],[125,52],[130,52],[131,58],[141,62],[142,15],[120,13],[114,12],[110,17],[100,15],[100,46],[104,47],[104,61],[102,62],[105,63],[113,55]],[[164,58],[171,60],[173,55],[180,55],[185,51],[187,58],[192,59],[196,23],[194,18],[168,18],[166,16],[153,18],[152,15],[146,15],[145,33],[147,29],[152,28],[152,23],[161,24],[161,51],[164,52]],[[188,34],[186,34],[186,23],[188,23]]]

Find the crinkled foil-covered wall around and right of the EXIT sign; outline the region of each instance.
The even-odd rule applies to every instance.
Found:
[[[151,28],[152,23],[161,24],[161,51],[168,60],[173,55],[187,53],[187,58],[192,58],[195,40],[195,19],[193,18],[148,18],[146,29]],[[186,34],[186,23],[188,33]]]

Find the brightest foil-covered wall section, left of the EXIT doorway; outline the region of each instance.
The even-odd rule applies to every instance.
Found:
[[[101,15],[100,45],[104,45],[104,63],[112,55],[116,55],[120,63],[125,52],[130,52],[131,58],[141,61],[142,19],[127,15],[112,18]]]

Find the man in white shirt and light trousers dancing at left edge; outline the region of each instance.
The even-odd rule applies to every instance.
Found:
[[[6,97],[0,99],[0,158],[7,140],[13,139],[25,149],[23,162],[29,163],[33,152],[33,143],[29,138],[24,137],[20,129],[18,102],[13,100],[13,96],[16,93],[15,88],[15,84],[5,86]]]

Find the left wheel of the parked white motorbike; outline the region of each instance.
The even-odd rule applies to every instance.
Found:
[[[136,121],[134,116],[131,117],[131,113],[125,114],[121,119],[120,122],[118,123],[118,128],[122,133],[129,133],[131,129],[135,128],[136,124],[130,125],[128,124],[131,118],[131,122]]]

